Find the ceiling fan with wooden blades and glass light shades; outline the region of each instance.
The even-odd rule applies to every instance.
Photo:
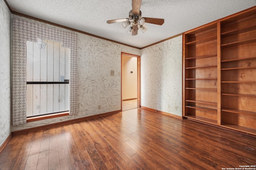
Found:
[[[132,35],[138,34],[138,25],[140,26],[140,30],[142,33],[147,31],[147,28],[144,26],[144,23],[153,23],[157,25],[163,25],[164,19],[162,18],[146,18],[141,17],[141,6],[142,0],[132,0],[132,10],[129,12],[129,18],[116,19],[116,20],[108,20],[107,23],[117,23],[122,22],[122,26],[126,28],[128,25],[132,23],[132,26],[128,29],[127,33]]]

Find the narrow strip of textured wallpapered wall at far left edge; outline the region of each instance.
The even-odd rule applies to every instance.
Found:
[[[0,146],[10,135],[10,10],[0,0]]]

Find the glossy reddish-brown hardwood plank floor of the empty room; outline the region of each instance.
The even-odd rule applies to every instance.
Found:
[[[132,109],[13,136],[1,170],[219,169],[256,164],[256,137]]]

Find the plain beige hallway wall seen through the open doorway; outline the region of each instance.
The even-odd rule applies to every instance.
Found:
[[[122,100],[137,98],[137,57],[122,57]]]

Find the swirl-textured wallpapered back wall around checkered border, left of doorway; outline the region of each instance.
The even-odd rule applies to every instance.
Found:
[[[47,25],[20,16],[15,17]],[[58,28],[52,25],[47,26]],[[121,109],[121,52],[140,55],[140,50],[82,33],[76,34],[78,35],[78,113],[12,126],[12,131]],[[110,70],[114,70],[114,76],[110,76]],[[100,109],[98,105],[101,106]]]

